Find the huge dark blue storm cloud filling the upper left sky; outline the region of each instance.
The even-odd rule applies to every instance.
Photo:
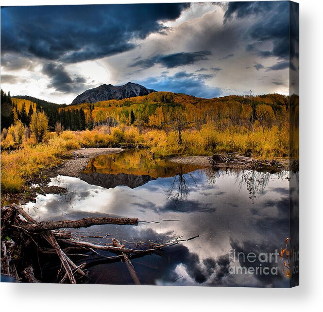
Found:
[[[1,8],[1,53],[80,62],[133,49],[189,3]]]

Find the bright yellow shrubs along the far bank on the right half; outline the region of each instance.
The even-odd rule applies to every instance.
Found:
[[[272,127],[255,133],[218,131],[212,125],[204,125],[200,131],[186,130],[182,134],[183,145],[179,146],[175,134],[164,130],[149,131],[144,144],[156,156],[210,156],[215,153],[239,152],[255,158],[276,158],[289,155],[289,132]]]

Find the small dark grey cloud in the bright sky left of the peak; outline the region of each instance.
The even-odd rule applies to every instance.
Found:
[[[71,76],[63,65],[48,63],[43,66],[42,72],[47,75],[51,82],[48,85],[50,88],[55,88],[56,91],[63,93],[78,92],[86,87],[86,79],[82,76]]]

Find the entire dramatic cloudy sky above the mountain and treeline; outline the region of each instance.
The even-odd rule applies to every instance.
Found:
[[[297,59],[288,1],[1,7],[1,88],[54,103],[128,81],[205,98],[288,94]]]

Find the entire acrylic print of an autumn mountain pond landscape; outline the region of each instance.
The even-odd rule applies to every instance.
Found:
[[[290,1],[1,7],[1,281],[298,285],[298,59]]]

